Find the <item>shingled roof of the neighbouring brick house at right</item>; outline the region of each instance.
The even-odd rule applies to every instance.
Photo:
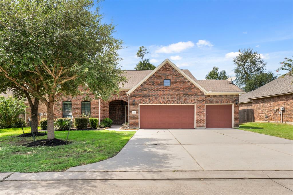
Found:
[[[293,93],[292,81],[293,77],[288,74],[286,74],[285,76],[280,76],[279,78],[276,78],[270,83],[267,83],[261,86],[260,88],[252,91],[253,93],[250,93],[247,98],[258,99],[281,94]]]

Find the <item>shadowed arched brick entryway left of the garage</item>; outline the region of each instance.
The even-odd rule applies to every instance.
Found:
[[[121,125],[128,121],[128,104],[123,100],[113,100],[109,102],[109,118],[113,120],[113,125]]]

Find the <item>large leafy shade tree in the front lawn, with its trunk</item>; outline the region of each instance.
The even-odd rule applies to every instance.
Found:
[[[126,78],[118,66],[122,41],[88,0],[0,1],[0,75],[47,106],[54,138],[57,93],[83,85],[108,98]]]

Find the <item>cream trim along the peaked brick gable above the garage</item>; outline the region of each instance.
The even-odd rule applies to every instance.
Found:
[[[139,83],[137,83],[133,88],[131,88],[127,94],[132,93],[136,88],[138,88],[142,83],[144,83],[144,81],[146,81],[149,77],[151,77],[156,71],[158,71],[163,65],[165,65],[168,62],[168,64],[170,64],[174,69],[176,69],[179,73],[181,73],[185,78],[187,78],[191,83],[193,83],[195,86],[197,86],[197,88],[199,88],[200,90],[202,90],[202,92],[204,93],[208,93],[207,90],[205,90],[202,86],[200,86],[198,83],[196,83],[194,80],[195,78],[191,78],[190,76],[188,76],[188,74],[186,74],[185,72],[183,72],[181,69],[178,68],[178,66],[176,66],[175,64],[173,64],[173,62],[171,62],[169,59],[165,59],[159,66],[157,66],[153,71],[151,71],[146,77],[144,77],[144,79],[142,79]],[[189,71],[188,71],[189,72]],[[191,74],[191,73],[190,73]]]

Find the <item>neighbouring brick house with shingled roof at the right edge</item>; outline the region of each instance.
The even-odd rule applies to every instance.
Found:
[[[293,77],[279,77],[260,88],[239,96],[239,110],[252,108],[253,119],[265,122],[268,116],[271,122],[293,123]],[[284,107],[281,110],[280,107]]]

